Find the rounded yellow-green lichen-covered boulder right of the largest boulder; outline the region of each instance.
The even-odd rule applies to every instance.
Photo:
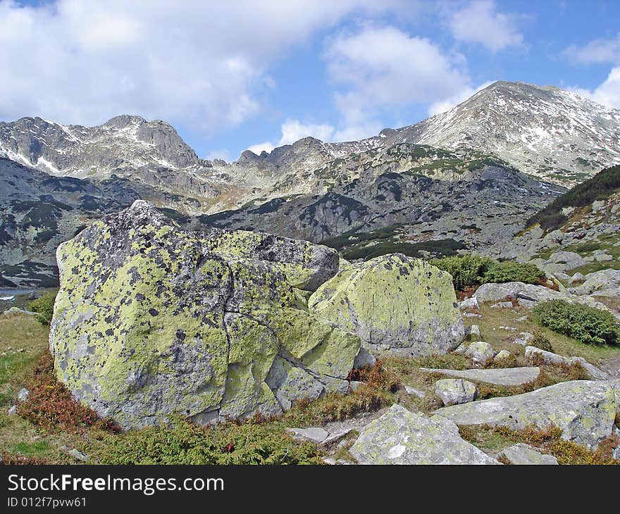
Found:
[[[342,268],[308,304],[380,354],[447,353],[464,339],[450,275],[402,253]]]

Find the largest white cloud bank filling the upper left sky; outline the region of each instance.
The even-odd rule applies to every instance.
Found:
[[[399,0],[0,1],[0,119],[119,113],[212,132],[255,115],[268,67],[347,15]]]

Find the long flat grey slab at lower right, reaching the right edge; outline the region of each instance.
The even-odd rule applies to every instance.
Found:
[[[435,414],[457,425],[504,426],[513,430],[528,425],[540,429],[555,425],[562,430],[563,439],[594,447],[612,434],[618,408],[612,384],[574,380],[516,396],[443,407]]]

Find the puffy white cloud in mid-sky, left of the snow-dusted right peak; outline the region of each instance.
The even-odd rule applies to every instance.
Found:
[[[393,26],[337,35],[324,58],[330,79],[342,87],[334,97],[342,113],[340,139],[376,134],[383,108],[445,101],[470,82],[461,56]]]

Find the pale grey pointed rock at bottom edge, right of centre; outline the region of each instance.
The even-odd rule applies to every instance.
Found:
[[[361,464],[498,464],[459,435],[453,422],[393,405],[349,450]]]

